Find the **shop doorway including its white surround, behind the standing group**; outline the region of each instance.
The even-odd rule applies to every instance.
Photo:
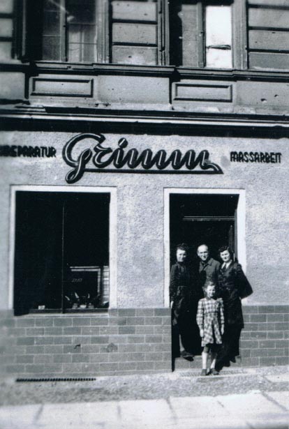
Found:
[[[165,283],[170,283],[170,267],[175,263],[175,250],[179,243],[187,244],[193,271],[198,270],[198,246],[204,243],[214,259],[218,260],[218,248],[226,244],[232,248],[235,257],[240,256],[243,262],[243,209],[243,190],[165,190]],[[169,240],[166,239],[168,237]],[[169,295],[168,289],[166,293]],[[188,326],[187,347],[194,354],[200,354],[200,335],[195,324],[195,314],[191,315],[191,319],[188,317],[188,321],[192,326]],[[172,337],[172,361],[178,356],[176,345],[177,341]]]

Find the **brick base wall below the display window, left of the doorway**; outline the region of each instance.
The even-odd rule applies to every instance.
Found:
[[[170,310],[2,315],[1,371],[12,377],[95,377],[170,371]]]

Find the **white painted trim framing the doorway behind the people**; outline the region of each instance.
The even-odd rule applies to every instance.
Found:
[[[220,188],[164,188],[164,306],[170,306],[170,195],[171,194],[221,194],[239,195],[237,205],[237,250],[238,260],[246,273],[246,191],[244,189]]]

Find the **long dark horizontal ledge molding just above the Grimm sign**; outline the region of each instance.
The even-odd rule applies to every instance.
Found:
[[[254,130],[259,128],[260,130],[265,130],[269,128],[274,128],[275,133],[278,130],[285,130],[289,128],[289,121],[283,115],[279,114],[178,114],[178,112],[165,111],[165,112],[138,112],[138,111],[124,111],[120,110],[97,110],[97,109],[71,109],[63,108],[57,109],[57,107],[49,107],[45,109],[42,107],[38,109],[37,107],[28,107],[19,106],[17,109],[0,109],[0,118],[5,119],[1,121],[1,128],[10,128],[14,127],[17,124],[17,129],[21,129],[26,123],[26,127],[29,127],[31,123],[32,128],[36,126],[36,122],[41,124],[43,127],[45,122],[54,121],[54,125],[57,126],[57,123],[66,123],[69,124],[69,127],[75,126],[75,123],[87,123],[87,121],[102,124],[105,126],[110,124],[110,126],[128,126],[128,124],[138,123],[138,126],[154,127],[170,127],[170,126],[180,126],[180,127],[207,127],[218,126],[221,127],[231,127],[231,128],[251,128],[254,127]],[[9,125],[10,124],[10,125]],[[77,127],[79,127],[78,125]],[[276,128],[278,127],[278,129]],[[51,128],[51,123],[50,127]],[[216,133],[216,129],[215,129]],[[269,137],[269,136],[268,136]]]

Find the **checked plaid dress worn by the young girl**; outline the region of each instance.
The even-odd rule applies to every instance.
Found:
[[[198,303],[197,323],[204,330],[202,347],[221,344],[221,326],[224,324],[223,299],[203,298]]]

